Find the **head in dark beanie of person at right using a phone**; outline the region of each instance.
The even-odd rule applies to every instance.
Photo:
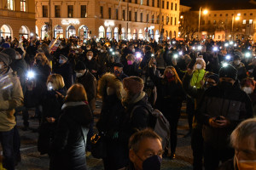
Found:
[[[237,78],[236,68],[232,65],[224,66],[218,71],[218,77],[220,84],[228,87],[233,86]]]

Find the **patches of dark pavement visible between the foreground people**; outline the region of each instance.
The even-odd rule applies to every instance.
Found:
[[[100,112],[101,104],[98,103],[98,109],[96,109],[96,117]],[[30,115],[33,111],[30,111]],[[49,169],[49,157],[47,155],[40,156],[37,150],[38,133],[32,133],[32,130],[22,131],[21,116],[18,116],[18,127],[20,129],[21,139],[21,157],[22,161],[16,167],[17,170],[47,170]],[[37,128],[38,120],[30,120],[30,127]],[[163,159],[163,170],[190,170],[192,169],[192,150],[190,147],[190,137],[184,138],[184,134],[188,133],[187,116],[184,114],[184,107],[181,118],[178,122],[178,139],[177,139],[177,151],[175,160],[168,158]],[[93,157],[87,158],[87,166],[89,170],[103,170],[102,160],[95,159]]]

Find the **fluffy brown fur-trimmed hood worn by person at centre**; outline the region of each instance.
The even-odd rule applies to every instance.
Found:
[[[123,83],[119,81],[115,75],[112,73],[106,73],[98,82],[98,94],[104,98],[104,95],[107,94],[107,88],[113,88],[119,99],[122,99],[121,91],[123,88]]]

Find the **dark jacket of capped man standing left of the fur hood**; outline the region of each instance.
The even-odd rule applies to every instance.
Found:
[[[76,82],[84,86],[91,111],[96,108],[96,78],[86,70],[84,76],[77,77]]]

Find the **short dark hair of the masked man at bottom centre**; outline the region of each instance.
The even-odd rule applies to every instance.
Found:
[[[129,140],[129,149],[134,150],[135,153],[139,150],[140,143],[143,139],[159,139],[160,136],[155,133],[151,128],[145,128],[142,131],[132,134]]]

